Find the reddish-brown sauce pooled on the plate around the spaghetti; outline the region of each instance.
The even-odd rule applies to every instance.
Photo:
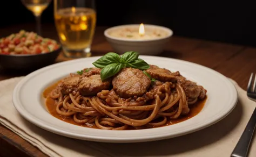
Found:
[[[64,116],[60,116],[58,115],[57,111],[56,111],[56,104],[55,104],[55,99],[52,99],[50,97],[48,97],[48,95],[50,94],[50,92],[55,89],[57,87],[59,82],[51,85],[50,87],[46,88],[43,92],[43,97],[46,99],[45,100],[45,105],[46,105],[46,108],[48,109],[49,113],[53,116],[53,117],[56,117],[60,120],[63,120],[64,122],[67,122],[67,123],[71,123],[71,124],[75,124],[75,125],[79,125],[79,126],[84,126],[84,127],[91,127],[91,128],[95,128],[95,129],[98,129],[95,125],[86,125],[86,124],[77,124],[73,118],[69,118],[69,117],[64,117]],[[163,126],[167,126],[167,125],[172,125],[172,124],[177,124],[177,123],[180,123],[180,122],[183,122],[187,119],[190,119],[194,116],[196,116],[203,108],[204,108],[204,105],[205,105],[205,102],[206,102],[206,99],[207,99],[207,96],[204,100],[201,100],[201,101],[198,101],[196,104],[193,104],[193,106],[190,108],[190,112],[188,113],[188,115],[185,115],[185,116],[180,116],[179,118],[177,119],[172,119],[172,120],[169,120],[165,125]]]

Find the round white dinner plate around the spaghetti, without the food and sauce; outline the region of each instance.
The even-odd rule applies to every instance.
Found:
[[[149,64],[172,71],[179,70],[187,79],[203,85],[207,89],[207,101],[203,110],[193,118],[178,124],[155,129],[126,131],[90,129],[66,123],[51,116],[44,104],[42,96],[44,89],[69,73],[75,73],[85,67],[93,67],[92,62],[98,58],[56,63],[27,75],[14,89],[12,101],[15,108],[31,123],[66,137],[102,142],[141,142],[173,138],[204,129],[226,117],[237,104],[237,90],[220,73],[187,61],[142,55],[139,58]]]

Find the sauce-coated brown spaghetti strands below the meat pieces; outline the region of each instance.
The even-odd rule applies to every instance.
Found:
[[[187,98],[180,83],[156,81],[141,97],[121,98],[113,89],[96,96],[79,91],[64,95],[59,85],[48,96],[55,99],[56,111],[77,124],[95,125],[103,130],[147,129],[165,126],[190,112],[198,98]]]

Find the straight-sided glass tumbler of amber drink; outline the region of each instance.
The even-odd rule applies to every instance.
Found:
[[[55,25],[65,56],[91,56],[95,33],[96,10],[94,0],[54,0]]]

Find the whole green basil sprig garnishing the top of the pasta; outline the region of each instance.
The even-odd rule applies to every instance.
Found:
[[[136,68],[140,70],[145,70],[150,68],[144,60],[138,59],[139,54],[134,51],[125,52],[122,56],[114,52],[109,52],[99,58],[92,64],[102,69],[100,72],[100,79],[105,80],[115,74],[117,74],[121,69],[125,67]]]

